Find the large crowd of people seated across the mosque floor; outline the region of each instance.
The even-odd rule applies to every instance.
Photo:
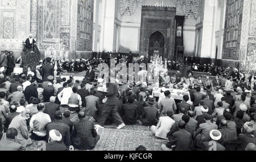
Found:
[[[39,73],[0,74],[0,150],[26,149],[34,141],[45,141],[47,151],[92,150],[99,128],[113,123],[118,129],[149,126],[156,138],[168,140],[164,151],[256,150],[254,74],[233,69],[230,78],[214,80],[194,78],[192,72],[181,78],[161,74],[156,97],[147,82],[115,80],[108,92],[98,91],[101,78],[90,63],[82,81],[60,73],[54,78],[51,64],[47,58],[36,68]],[[190,95],[172,98],[171,85],[188,87]],[[76,113],[79,119],[72,122]]]

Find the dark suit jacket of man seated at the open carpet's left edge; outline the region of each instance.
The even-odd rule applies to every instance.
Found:
[[[76,148],[83,150],[93,149],[99,139],[100,136],[97,135],[92,121],[83,118],[74,123],[72,141]]]

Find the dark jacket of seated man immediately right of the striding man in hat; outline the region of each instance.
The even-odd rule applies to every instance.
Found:
[[[137,105],[124,104],[122,106],[122,118],[123,122],[127,125],[133,125],[137,122]]]

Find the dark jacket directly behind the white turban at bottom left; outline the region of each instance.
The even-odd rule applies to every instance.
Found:
[[[67,124],[62,123],[61,121],[55,120],[46,125],[47,139],[49,139],[49,131],[57,130],[62,135],[60,142],[64,142],[67,147],[71,145],[70,142],[70,131]]]

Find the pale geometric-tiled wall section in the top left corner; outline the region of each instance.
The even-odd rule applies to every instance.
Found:
[[[21,50],[30,32],[31,0],[0,0],[0,48]]]

